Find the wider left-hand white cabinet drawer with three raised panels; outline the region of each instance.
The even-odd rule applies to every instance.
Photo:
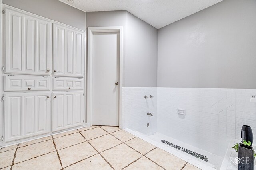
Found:
[[[4,91],[50,90],[48,76],[4,76]]]

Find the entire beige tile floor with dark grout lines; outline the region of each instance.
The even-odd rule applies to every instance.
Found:
[[[2,170],[199,170],[118,129],[92,126],[0,150]]]

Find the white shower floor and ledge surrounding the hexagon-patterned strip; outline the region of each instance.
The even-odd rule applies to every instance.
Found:
[[[173,139],[173,138],[163,135],[161,133],[154,133],[152,135],[144,135],[143,133],[140,133],[138,131],[132,131],[131,129],[125,129],[125,130],[132,133],[133,135],[136,135],[137,137],[140,137],[141,139],[173,154],[174,156],[177,156],[178,158],[181,158],[181,159],[185,160],[186,162],[188,162],[194,166],[197,166],[198,168],[205,169],[205,170],[216,170],[216,169],[219,170],[220,166],[222,164],[222,161],[223,161],[222,157],[217,156],[215,154],[211,154],[210,152],[206,152],[205,150],[198,149],[196,147],[193,147],[191,145],[188,145],[186,143],[183,143],[181,141],[178,141],[176,139]],[[168,146],[165,143],[162,143],[161,140],[165,140],[165,141],[168,141],[175,145],[178,145],[180,147],[184,147],[193,152],[200,153],[208,158],[208,162],[205,162],[204,160],[196,158],[188,153],[182,152],[176,148]]]

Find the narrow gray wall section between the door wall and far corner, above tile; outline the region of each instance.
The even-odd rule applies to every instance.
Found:
[[[127,12],[126,87],[157,86],[157,29]]]

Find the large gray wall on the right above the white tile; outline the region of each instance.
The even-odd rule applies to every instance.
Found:
[[[158,30],[158,86],[256,88],[256,0],[224,0]]]

